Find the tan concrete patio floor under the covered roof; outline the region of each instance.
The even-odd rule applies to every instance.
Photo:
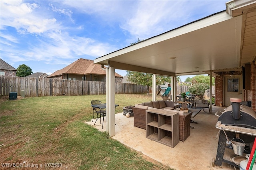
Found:
[[[146,130],[134,127],[134,117],[127,118],[123,113],[115,115],[115,135],[112,138],[176,170],[235,169],[234,166],[229,166],[224,162],[222,167],[212,166],[212,159],[216,158],[218,146],[218,138],[215,140],[218,133],[218,129],[215,128],[218,117],[214,113],[223,111],[224,108],[212,106],[212,114],[200,111],[196,117],[192,118],[198,124],[190,123],[194,127],[190,128],[190,136],[184,142],[180,141],[174,148],[146,138]],[[208,109],[206,110],[208,111]],[[100,131],[106,131],[105,120],[103,129],[100,120],[96,122],[96,125],[93,125],[92,121],[86,123]],[[237,155],[230,155],[230,160],[234,156]]]

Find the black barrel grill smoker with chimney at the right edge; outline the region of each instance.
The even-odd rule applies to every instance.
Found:
[[[240,105],[241,99],[230,99],[230,101],[232,105],[227,107],[220,115],[218,119],[220,124],[216,124],[216,128],[220,129],[220,135],[216,160],[214,158],[212,162],[213,166],[221,166],[222,162],[237,166],[234,162],[230,161],[230,158],[224,158],[225,150],[228,151],[227,149],[230,149],[228,146],[226,147],[226,138],[229,140],[240,138],[249,147],[254,142],[256,136],[256,113],[250,107]]]

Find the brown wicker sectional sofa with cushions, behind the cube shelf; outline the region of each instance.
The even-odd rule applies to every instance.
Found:
[[[162,102],[166,103],[165,107],[164,103]],[[153,101],[135,105],[135,107],[132,107],[134,115],[134,127],[146,129],[146,110],[151,109],[152,106],[153,108],[163,109],[166,111],[175,111],[174,108],[177,107],[174,105],[173,101]],[[184,142],[184,140],[186,140],[186,138],[190,135],[190,118],[192,113],[184,113],[182,111],[176,112],[179,113],[179,139]]]

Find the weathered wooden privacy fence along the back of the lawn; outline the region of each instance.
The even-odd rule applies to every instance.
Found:
[[[159,88],[159,87],[158,87]],[[143,85],[116,83],[116,94],[147,93]],[[151,90],[151,87],[150,87]],[[0,95],[24,91],[25,97],[106,94],[106,82],[0,76]]]

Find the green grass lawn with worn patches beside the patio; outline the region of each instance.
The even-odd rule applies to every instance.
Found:
[[[45,164],[72,170],[170,169],[148,162],[106,132],[84,123],[92,119],[90,102],[105,103],[106,95],[7,99],[2,97],[0,103],[1,163],[42,164],[43,169],[51,169]],[[151,100],[146,94],[116,95],[116,113],[127,105]],[[0,169],[4,169],[2,164]]]

